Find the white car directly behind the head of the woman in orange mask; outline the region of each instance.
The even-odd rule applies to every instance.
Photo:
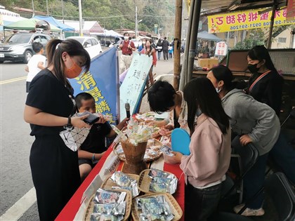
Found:
[[[88,51],[90,58],[96,57],[103,52],[100,42],[95,37],[91,36],[69,36],[67,39],[75,39]]]

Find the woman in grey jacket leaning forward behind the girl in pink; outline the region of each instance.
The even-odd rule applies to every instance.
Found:
[[[251,142],[258,149],[258,160],[244,178],[244,199],[251,199],[263,186],[268,152],[280,134],[280,121],[271,107],[235,88],[232,83],[232,72],[228,67],[212,68],[207,78],[216,88],[225,113],[230,116],[232,131],[240,136],[240,145],[244,146]],[[260,194],[242,215],[263,215],[262,204],[263,194]],[[236,206],[235,212],[239,212],[243,206]]]

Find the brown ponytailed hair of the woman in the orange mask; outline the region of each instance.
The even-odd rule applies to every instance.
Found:
[[[47,43],[46,53],[48,60],[48,67],[53,65],[53,71],[56,78],[64,83],[65,85],[70,86],[67,77],[65,76],[64,69],[65,64],[62,58],[64,52],[67,52],[71,57],[72,56],[83,56],[85,58],[84,70],[85,72],[89,71],[91,58],[89,53],[83,48],[79,41],[74,39],[67,39],[61,41],[59,39],[52,39]]]

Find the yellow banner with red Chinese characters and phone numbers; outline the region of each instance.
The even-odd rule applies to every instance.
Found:
[[[244,29],[270,27],[272,11],[268,11],[259,15],[258,12],[263,10],[265,9],[208,16],[208,32],[232,32]],[[280,11],[275,11],[274,25],[278,26],[295,24],[295,20],[287,21],[286,17],[286,8]]]

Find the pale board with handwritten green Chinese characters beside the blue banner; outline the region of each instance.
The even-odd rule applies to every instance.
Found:
[[[128,73],[120,86],[120,119],[126,117],[125,103],[130,105],[130,113],[135,114],[143,95],[148,72],[152,67],[152,57],[133,53]]]

